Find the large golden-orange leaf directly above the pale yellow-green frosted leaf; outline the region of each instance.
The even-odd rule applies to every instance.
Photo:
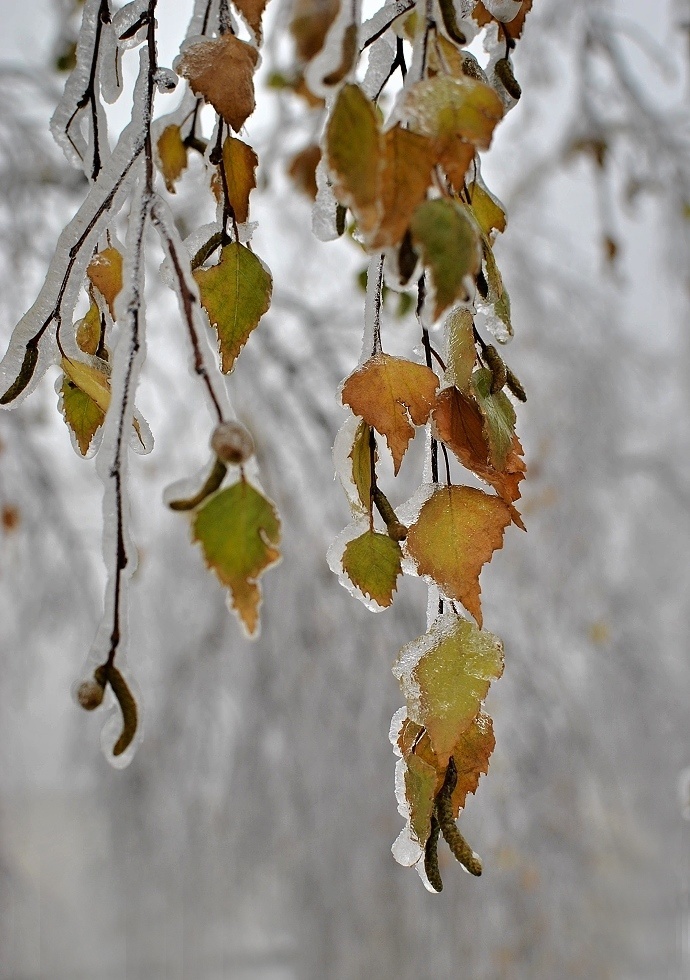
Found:
[[[512,514],[500,497],[473,487],[439,487],[410,526],[406,548],[420,575],[457,599],[482,624],[479,573],[497,548]]]

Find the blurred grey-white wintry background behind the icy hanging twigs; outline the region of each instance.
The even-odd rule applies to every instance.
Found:
[[[186,7],[160,5],[163,64]],[[0,0],[3,349],[84,193],[47,126],[68,11]],[[286,9],[271,16],[283,30]],[[100,482],[54,378],[0,414],[3,980],[690,975],[689,41],[686,0],[535,0],[523,98],[484,160],[509,215],[497,256],[529,395],[529,533],[508,532],[482,576],[506,671],[487,704],[496,752],[461,821],[481,879],[448,861],[430,895],[390,853],[390,666],[425,628],[426,590],[406,581],[374,616],[326,565],[349,519],[334,392],[359,355],[365,260],[311,236],[283,176],[315,125],[302,103],[261,90],[247,125],[275,293],[230,385],[285,543],[255,644],[162,505],[206,462],[210,422],[151,250],[138,404],[156,448],[131,467],[146,734],[125,771],[70,696],[101,611]],[[194,173],[174,204],[194,227]],[[413,318],[392,310],[384,345],[409,349]],[[422,449],[387,486],[394,504]]]

